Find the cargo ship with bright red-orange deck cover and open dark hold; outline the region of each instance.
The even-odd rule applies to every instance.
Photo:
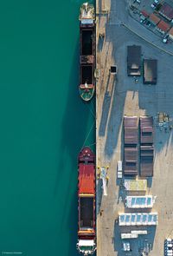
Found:
[[[78,156],[78,242],[83,255],[96,250],[95,224],[95,155],[90,148],[83,148]]]

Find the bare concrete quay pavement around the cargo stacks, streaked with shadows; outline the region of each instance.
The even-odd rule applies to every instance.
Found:
[[[103,194],[98,169],[97,255],[140,256],[148,250],[148,255],[160,256],[164,239],[173,237],[173,139],[171,126],[168,129],[157,127],[157,112],[168,113],[173,119],[173,57],[157,48],[151,32],[147,34],[147,30],[141,29],[140,23],[129,16],[128,1],[97,0],[96,13],[97,166],[108,167],[107,195]],[[142,58],[157,59],[157,85],[144,85],[142,76],[137,80],[127,76],[127,45],[133,44],[141,45]],[[116,65],[117,74],[110,72],[112,65]],[[129,233],[131,228],[125,227],[122,232],[118,224],[118,213],[126,212],[123,179],[117,179],[117,161],[123,161],[124,115],[151,115],[155,121],[154,176],[147,181],[146,194],[157,196],[151,211],[158,213],[158,226],[147,227],[148,234],[131,239],[129,254],[122,251],[120,233]]]

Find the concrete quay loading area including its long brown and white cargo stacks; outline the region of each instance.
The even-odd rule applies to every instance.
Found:
[[[97,255],[162,256],[173,237],[172,56],[122,25],[130,19],[124,0],[97,0],[96,12],[97,167],[107,167],[106,193],[97,180]],[[140,75],[128,75],[133,45]],[[145,76],[144,60],[157,60]]]

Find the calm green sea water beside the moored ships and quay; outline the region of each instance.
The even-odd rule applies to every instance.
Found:
[[[77,154],[95,142],[77,89],[81,3],[0,3],[0,255],[78,255]]]

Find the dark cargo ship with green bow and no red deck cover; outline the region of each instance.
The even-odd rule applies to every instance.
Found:
[[[95,10],[93,4],[80,7],[80,97],[85,102],[93,98],[95,90]]]

